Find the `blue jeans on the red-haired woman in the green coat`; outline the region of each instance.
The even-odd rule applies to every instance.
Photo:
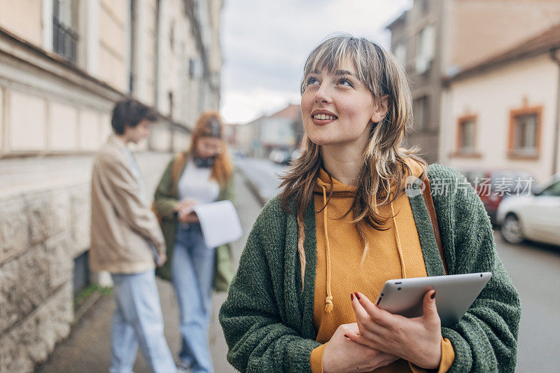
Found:
[[[193,373],[213,372],[208,327],[212,314],[215,248],[204,244],[200,224],[177,225],[172,281],[179,301],[183,345],[179,358]]]

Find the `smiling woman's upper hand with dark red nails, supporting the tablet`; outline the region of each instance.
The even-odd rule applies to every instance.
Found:
[[[354,293],[352,307],[359,329],[348,334],[353,342],[400,356],[425,369],[440,366],[442,332],[435,290],[424,295],[423,316],[417,318],[393,315],[361,293]]]

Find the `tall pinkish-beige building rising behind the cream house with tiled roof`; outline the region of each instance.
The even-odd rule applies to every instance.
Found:
[[[428,162],[442,160],[442,77],[512,48],[560,20],[556,0],[414,0],[387,29],[391,50],[412,82],[414,131]]]

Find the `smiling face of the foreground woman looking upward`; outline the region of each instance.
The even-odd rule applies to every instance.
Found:
[[[311,71],[304,81],[303,127],[311,141],[321,146],[367,141],[372,120],[378,121],[377,105],[353,64],[344,62],[333,73]]]

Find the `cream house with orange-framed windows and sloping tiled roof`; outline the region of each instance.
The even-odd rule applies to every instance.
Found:
[[[458,169],[560,172],[560,24],[444,80],[440,159]]]

